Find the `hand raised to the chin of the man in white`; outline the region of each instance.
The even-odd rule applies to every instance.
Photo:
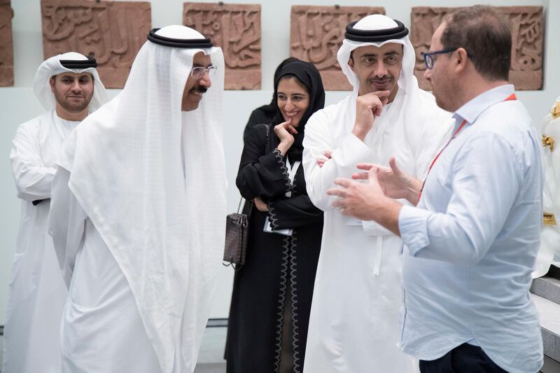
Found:
[[[389,91],[376,91],[358,96],[356,99],[356,122],[354,122],[352,133],[361,141],[372,129],[375,117],[381,115],[381,110],[387,104],[389,94]]]

